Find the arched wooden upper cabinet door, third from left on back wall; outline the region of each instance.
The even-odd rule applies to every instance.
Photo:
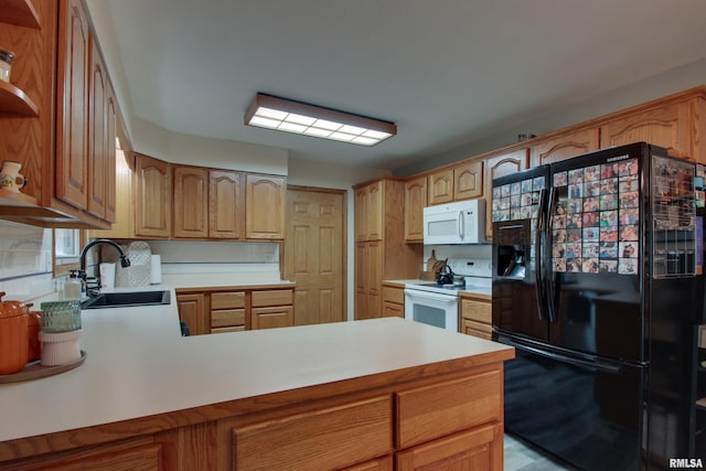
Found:
[[[243,174],[228,170],[208,172],[208,237],[238,239],[245,224]]]

